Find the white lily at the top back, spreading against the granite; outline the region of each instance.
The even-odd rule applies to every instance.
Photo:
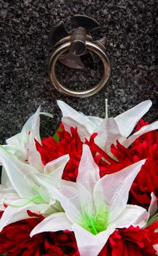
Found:
[[[79,113],[68,106],[65,102],[58,100],[58,106],[63,113],[62,122],[66,131],[71,132],[71,127],[78,127],[79,137],[82,141],[84,141],[84,138],[89,139],[92,133],[97,132],[98,136],[95,138],[95,143],[108,154],[110,153],[111,144],[115,144],[116,140],[119,140],[125,146],[130,146],[140,135],[158,129],[158,121],[156,121],[153,124],[146,125],[146,128],[142,127],[139,132],[135,132],[126,140],[136,123],[151,108],[151,104],[151,100],[146,100],[115,118],[103,119],[85,116],[83,113]]]

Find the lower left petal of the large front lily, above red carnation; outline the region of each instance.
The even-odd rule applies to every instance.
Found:
[[[68,220],[64,212],[52,214],[40,222],[39,225],[36,225],[31,231],[30,236],[32,237],[42,232],[55,232],[60,230],[71,231],[71,225],[72,223]]]

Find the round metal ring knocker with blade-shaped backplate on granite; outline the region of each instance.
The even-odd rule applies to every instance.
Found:
[[[105,37],[93,41],[90,31],[98,29],[100,24],[85,15],[75,15],[74,19],[78,28],[68,32],[61,21],[52,31],[52,46],[55,51],[52,53],[49,64],[49,75],[52,84],[61,93],[71,97],[90,97],[96,94],[105,86],[111,74],[111,64],[104,47]],[[85,53],[90,53],[95,63],[103,62],[104,72],[100,81],[91,89],[86,91],[74,91],[63,86],[55,74],[55,64],[60,61],[66,67],[82,69],[84,65],[80,59]]]

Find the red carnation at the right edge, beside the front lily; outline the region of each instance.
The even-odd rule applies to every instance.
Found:
[[[145,124],[141,121],[137,130]],[[135,140],[130,148],[125,148],[117,141],[116,146],[111,146],[111,153],[118,159],[118,162],[104,156],[110,165],[104,162],[105,169],[101,176],[115,173],[141,159],[147,159],[130,189],[129,203],[149,207],[151,192],[154,192],[158,200],[158,132],[147,132]]]

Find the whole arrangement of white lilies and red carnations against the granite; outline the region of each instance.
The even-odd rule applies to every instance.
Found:
[[[41,140],[39,108],[0,146],[0,255],[158,255],[151,101],[105,119],[58,105],[54,136]]]

